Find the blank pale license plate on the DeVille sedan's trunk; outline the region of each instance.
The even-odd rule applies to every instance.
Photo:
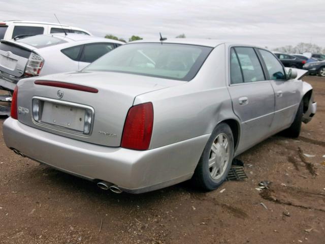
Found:
[[[83,132],[85,109],[44,102],[42,122]]]

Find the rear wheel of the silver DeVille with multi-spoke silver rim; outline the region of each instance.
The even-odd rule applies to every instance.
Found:
[[[232,130],[226,123],[220,123],[211,133],[194,171],[192,182],[204,191],[217,189],[228,176],[233,156]]]

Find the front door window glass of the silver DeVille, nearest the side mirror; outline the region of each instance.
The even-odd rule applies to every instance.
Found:
[[[281,63],[278,61],[278,59],[269,51],[263,49],[258,49],[258,50],[263,57],[270,79],[284,80],[285,79],[284,69]]]

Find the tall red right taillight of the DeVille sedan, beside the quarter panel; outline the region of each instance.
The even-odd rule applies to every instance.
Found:
[[[121,147],[147,150],[151,140],[152,127],[152,103],[143,103],[131,107],[125,119]]]

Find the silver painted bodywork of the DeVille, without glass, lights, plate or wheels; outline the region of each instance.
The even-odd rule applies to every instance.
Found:
[[[142,193],[191,178],[212,130],[222,121],[233,131],[237,156],[288,128],[304,97],[308,97],[305,122],[316,112],[312,87],[299,79],[231,84],[230,48],[246,45],[190,39],[166,42],[213,49],[189,82],[116,72],[42,77],[100,90],[80,96],[76,90],[61,89],[64,96],[58,99],[58,88],[36,85],[36,78],[21,80],[18,107],[23,109],[18,120],[8,118],[4,123],[7,146],[64,172]],[[92,133],[78,135],[37,123],[31,115],[31,101],[39,98],[93,108]],[[154,108],[149,149],[120,147],[128,109],[146,102]]]

